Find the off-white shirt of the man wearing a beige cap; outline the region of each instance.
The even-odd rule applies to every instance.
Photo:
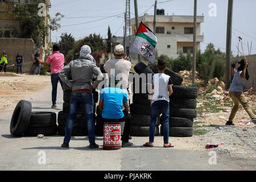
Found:
[[[131,69],[130,61],[127,61],[125,59],[110,59],[104,64],[104,69],[108,73],[109,78],[110,75],[113,74],[118,74],[119,77],[122,77],[122,83],[124,84],[123,87],[126,89],[128,88],[128,79]],[[107,81],[107,84],[109,84],[109,80]]]

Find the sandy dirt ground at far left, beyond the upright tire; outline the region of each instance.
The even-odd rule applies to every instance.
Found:
[[[51,84],[50,76],[0,73],[0,110],[13,109],[19,100],[44,89],[49,84]]]

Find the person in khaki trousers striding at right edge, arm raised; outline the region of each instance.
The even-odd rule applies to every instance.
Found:
[[[226,125],[234,125],[233,119],[237,113],[238,107],[242,104],[243,109],[249,114],[251,118],[251,122],[256,123],[255,114],[250,109],[248,101],[246,100],[245,94],[243,94],[243,85],[245,84],[245,79],[249,80],[249,74],[247,71],[247,67],[249,62],[247,59],[242,59],[240,62],[240,67],[237,68],[237,72],[234,75],[232,84],[229,88],[229,95],[234,102],[234,107],[230,113],[229,121],[226,122]]]

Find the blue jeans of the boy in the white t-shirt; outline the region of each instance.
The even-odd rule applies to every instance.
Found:
[[[155,137],[155,123],[158,117],[158,111],[162,111],[163,118],[163,136],[164,143],[169,143],[169,114],[170,106],[167,101],[155,101],[151,107],[151,121],[150,121],[150,142],[154,142]]]

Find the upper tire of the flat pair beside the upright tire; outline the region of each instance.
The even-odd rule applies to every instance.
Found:
[[[53,112],[32,112],[28,127],[55,126],[56,113]]]

